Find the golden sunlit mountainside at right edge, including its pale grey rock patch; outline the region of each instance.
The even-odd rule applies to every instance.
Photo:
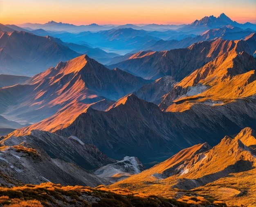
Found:
[[[215,106],[255,95],[256,61],[245,52],[238,53],[238,47],[239,41],[231,51],[182,79],[165,96],[160,108],[182,112],[194,104]]]

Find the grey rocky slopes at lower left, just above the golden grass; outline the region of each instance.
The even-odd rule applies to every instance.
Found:
[[[60,137],[35,130],[27,136],[2,139],[0,146],[3,185],[16,180],[31,184],[53,182],[92,187],[109,184],[86,170],[114,160],[107,158],[95,145],[85,145],[75,137]]]

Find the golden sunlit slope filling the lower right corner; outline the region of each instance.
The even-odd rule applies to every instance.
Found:
[[[183,195],[179,189],[193,194],[195,188],[197,194],[209,194],[229,205],[234,205],[238,200],[241,204],[252,205],[256,195],[256,188],[253,186],[256,183],[255,136],[254,130],[245,128],[235,138],[226,136],[212,149],[207,143],[195,145],[140,174],[112,184],[109,188],[127,188],[148,195],[176,198]],[[245,178],[252,181],[243,181]],[[223,188],[222,192],[215,184]],[[215,191],[211,192],[211,189],[220,191],[215,195]],[[229,195],[225,196],[225,191]],[[238,194],[240,196],[236,197]]]

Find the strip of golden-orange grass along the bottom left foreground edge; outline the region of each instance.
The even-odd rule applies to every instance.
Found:
[[[41,207],[41,206],[90,206],[91,198],[101,206],[163,206],[189,207],[188,204],[159,196],[146,196],[128,189],[108,190],[103,185],[97,188],[83,186],[61,186],[54,183],[23,185],[12,188],[0,187],[0,206]]]

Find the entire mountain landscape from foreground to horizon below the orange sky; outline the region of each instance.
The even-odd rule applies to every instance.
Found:
[[[0,205],[256,205],[255,30],[0,24]]]

